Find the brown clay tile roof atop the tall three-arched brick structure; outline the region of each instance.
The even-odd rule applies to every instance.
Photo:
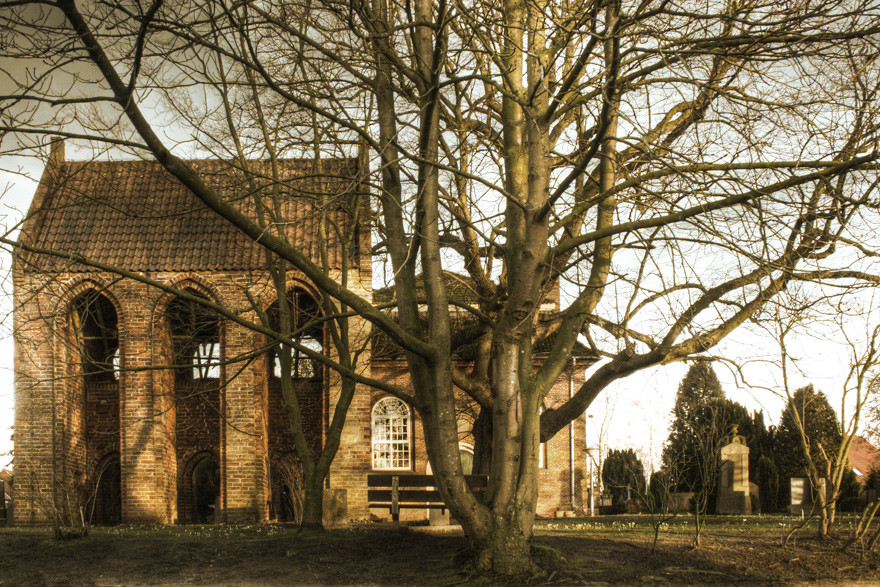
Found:
[[[229,162],[188,162],[205,182],[252,218],[253,189]],[[341,238],[334,227],[351,225],[358,174],[356,159],[325,159],[322,174],[311,159],[280,162],[278,199],[289,241],[313,261],[319,257],[319,221],[328,212],[329,265],[342,265]],[[268,162],[249,163],[261,193],[272,189]],[[325,189],[323,194],[321,186]],[[323,196],[323,204],[322,204]],[[361,206],[367,198],[360,198]],[[364,208],[362,207],[361,210]],[[344,234],[344,232],[342,233]],[[358,238],[357,232],[355,238]],[[47,170],[22,227],[24,242],[134,271],[253,270],[265,266],[260,250],[226,220],[208,210],[158,163],[149,161],[66,162],[57,177]],[[352,259],[359,243],[350,243]],[[25,271],[90,271],[57,257],[22,252]]]

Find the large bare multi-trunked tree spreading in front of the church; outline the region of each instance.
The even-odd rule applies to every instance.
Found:
[[[402,395],[483,569],[528,568],[539,443],[611,382],[710,352],[790,283],[878,279],[874,0],[0,6],[3,55],[28,66],[2,84],[4,133],[156,159],[405,350]],[[315,128],[321,148],[364,144],[393,312],[212,190],[163,138],[168,112],[174,136],[227,154],[297,153]],[[477,300],[467,328],[453,281]],[[579,337],[611,360],[541,414]],[[465,343],[467,372],[452,361]],[[456,386],[490,431],[482,501]]]

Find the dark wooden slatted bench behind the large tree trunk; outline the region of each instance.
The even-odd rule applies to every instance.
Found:
[[[486,475],[465,475],[465,481],[471,491],[477,494],[485,493],[489,485]],[[370,473],[367,475],[367,501],[371,508],[390,509],[394,525],[398,526],[400,510],[403,508],[446,509],[436,484],[433,475],[407,472]]]

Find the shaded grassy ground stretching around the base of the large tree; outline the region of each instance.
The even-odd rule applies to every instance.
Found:
[[[679,516],[651,553],[648,516],[540,520],[534,540],[542,572],[532,584],[880,584],[880,554],[840,552],[854,522],[787,548],[788,516],[714,516],[703,546]],[[94,528],[59,542],[48,529],[0,529],[0,585],[462,585],[489,584],[465,572],[461,536],[384,526],[299,533],[277,525]]]

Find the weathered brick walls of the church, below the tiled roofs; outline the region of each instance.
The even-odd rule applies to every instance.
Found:
[[[274,301],[268,280],[246,273],[209,272],[203,275],[160,273],[159,281],[193,287],[224,307],[256,321],[249,311],[251,299],[264,307]],[[283,407],[270,389],[265,360],[252,360],[264,344],[261,335],[224,321],[221,328],[222,359],[219,391],[210,400],[181,399],[171,369],[171,341],[165,313],[171,294],[105,274],[62,274],[40,277],[17,271],[15,278],[16,330],[16,522],[47,523],[40,503],[50,503],[63,487],[73,486],[77,475],[92,474],[95,461],[114,446],[121,461],[122,521],[172,523],[191,518],[186,493],[192,457],[200,451],[216,453],[221,475],[220,519],[265,521],[272,500],[272,454],[285,451],[290,442]],[[86,279],[88,278],[88,279]],[[296,276],[291,276],[293,283]],[[353,272],[349,288],[370,299],[369,273]],[[122,372],[114,399],[112,386],[86,390],[77,373],[79,358],[71,348],[66,312],[70,301],[88,289],[103,291],[117,310]],[[249,295],[248,295],[249,294]],[[356,370],[405,384],[402,364],[373,365],[367,344],[370,325],[350,320],[350,343],[360,351]],[[330,348],[331,356],[336,357]],[[246,358],[246,360],[245,360]],[[568,394],[564,374],[547,397],[547,406]],[[582,372],[575,374],[574,386]],[[324,369],[323,383],[300,390],[312,446],[323,445],[326,427],[339,401],[340,378]],[[190,390],[192,391],[192,390]],[[343,490],[348,517],[365,519],[366,476],[371,469],[370,415],[382,394],[358,385],[340,439],[327,487]],[[216,413],[210,405],[217,407]],[[114,422],[114,412],[117,414]],[[468,410],[461,414],[461,438],[468,438]],[[86,413],[90,414],[88,417]],[[117,430],[117,432],[114,432]],[[575,431],[574,507],[584,503],[584,425]],[[427,458],[417,418],[413,459],[424,472]],[[102,454],[103,453],[103,454]],[[568,429],[548,443],[548,466],[541,471],[539,513],[552,515],[569,507]]]

